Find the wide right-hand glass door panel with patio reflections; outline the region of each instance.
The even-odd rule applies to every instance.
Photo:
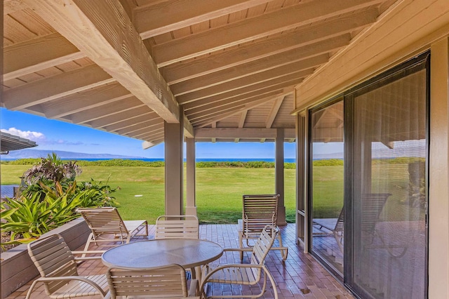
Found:
[[[349,95],[351,288],[363,298],[425,298],[426,60]]]

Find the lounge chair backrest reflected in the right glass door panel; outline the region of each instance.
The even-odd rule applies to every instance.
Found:
[[[390,196],[390,193],[363,194],[361,211],[361,230],[363,232],[374,234],[376,222]]]

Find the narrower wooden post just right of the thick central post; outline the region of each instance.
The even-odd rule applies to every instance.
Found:
[[[186,192],[187,204],[185,206],[186,215],[196,215],[196,194],[195,194],[195,139],[186,138]]]

